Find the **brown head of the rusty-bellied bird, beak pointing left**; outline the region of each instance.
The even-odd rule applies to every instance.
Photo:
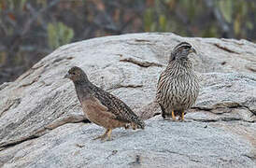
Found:
[[[88,77],[78,66],[73,66],[70,68],[64,77],[71,79],[75,83],[79,81],[88,81]]]

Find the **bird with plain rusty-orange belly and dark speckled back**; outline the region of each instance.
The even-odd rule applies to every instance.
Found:
[[[112,130],[118,127],[126,129],[132,126],[133,129],[144,129],[145,123],[128,105],[118,97],[93,85],[79,67],[72,67],[65,77],[73,81],[86,118],[107,129],[106,133],[94,139],[104,140],[107,137],[107,140],[111,140]]]

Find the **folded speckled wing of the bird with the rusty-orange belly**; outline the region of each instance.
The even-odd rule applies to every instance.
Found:
[[[107,111],[114,114],[116,119],[126,122],[138,119],[133,110],[128,105],[124,104],[118,97],[100,88],[94,88],[94,90],[96,90],[94,96],[102,105],[107,106]]]

